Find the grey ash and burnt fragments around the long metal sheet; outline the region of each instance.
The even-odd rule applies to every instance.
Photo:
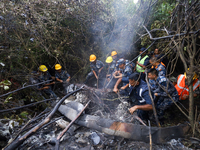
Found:
[[[75,87],[73,87],[75,88]],[[71,89],[70,89],[71,90]],[[98,91],[98,93],[101,93]],[[92,100],[85,110],[84,113],[100,116],[102,118],[110,118],[112,120],[140,124],[139,121],[133,118],[128,112],[130,104],[127,102],[126,98],[119,98],[116,94],[106,93],[102,95],[94,94],[93,92],[81,91],[66,99],[66,103],[69,101],[80,102],[85,105],[88,100]],[[56,117],[61,116],[57,113]],[[39,130],[33,136],[28,138],[18,149],[54,149],[54,144],[51,142],[52,139],[56,138],[59,133],[69,124],[70,120],[67,118],[60,119],[49,126]],[[9,124],[8,124],[9,126]],[[5,128],[6,137],[14,137],[16,134],[9,132],[9,127]],[[18,128],[20,129],[20,128]],[[13,131],[12,131],[13,132]],[[16,133],[18,131],[15,131]],[[80,127],[77,125],[72,125],[67,133],[64,134],[60,140],[60,150],[99,150],[99,149],[149,149],[149,143],[132,141],[129,139],[124,139],[122,137],[110,136],[105,133],[101,133],[92,129],[85,127]],[[173,140],[167,144],[155,145],[153,144],[153,149],[188,149],[184,147],[180,140]]]

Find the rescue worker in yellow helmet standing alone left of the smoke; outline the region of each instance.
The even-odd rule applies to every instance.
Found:
[[[95,77],[97,80],[99,79],[104,64],[100,60],[97,60],[96,56],[92,54],[90,55],[90,68],[91,72],[88,73],[86,81],[84,82],[85,84],[87,84],[88,80],[92,77]]]

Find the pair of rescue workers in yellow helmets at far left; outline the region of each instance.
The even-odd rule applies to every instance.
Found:
[[[67,94],[67,86],[70,82],[70,75],[66,70],[62,70],[62,66],[60,64],[56,64],[55,67],[55,76],[52,76],[47,66],[40,65],[37,72],[37,80],[38,82],[45,82],[44,84],[38,85],[37,89],[39,91],[45,92],[47,95],[50,95],[52,98],[58,99],[58,96],[52,90],[52,87],[55,85],[55,81],[57,84],[60,83],[60,87],[64,90],[64,94]]]

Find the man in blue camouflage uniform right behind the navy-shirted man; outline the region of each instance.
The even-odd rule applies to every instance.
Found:
[[[148,78],[155,81],[155,84],[151,85],[151,90],[155,97],[154,101],[156,103],[158,119],[163,121],[165,110],[173,104],[169,95],[175,102],[178,102],[178,92],[166,77],[158,75],[158,71],[155,68],[151,68],[148,71]]]

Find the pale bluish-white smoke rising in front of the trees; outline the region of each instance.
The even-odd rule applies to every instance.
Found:
[[[95,41],[101,43],[104,54],[112,50],[127,54],[133,49],[135,29],[143,20],[135,14],[139,6],[133,0],[115,0],[110,4],[109,14],[101,14],[92,27],[98,33]]]

